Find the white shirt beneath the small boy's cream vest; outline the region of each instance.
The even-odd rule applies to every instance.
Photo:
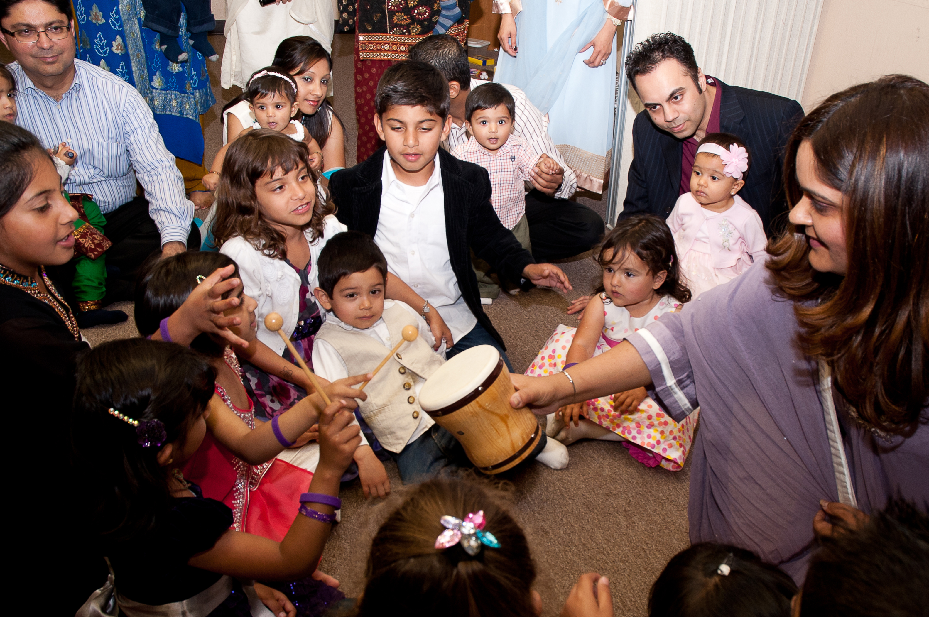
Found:
[[[419,328],[419,335],[423,338],[423,340],[425,340],[426,343],[428,343],[429,347],[435,347],[436,338],[432,335],[432,332],[429,331],[429,326],[426,324],[425,320],[420,317],[419,313],[410,307],[410,305],[399,300],[385,300],[384,309],[386,310],[387,308],[391,308],[395,304],[405,308],[410,312],[410,314],[416,320],[416,327]],[[355,326],[348,325],[346,322],[343,322],[335,316],[335,313],[332,310],[330,310],[326,311],[326,322],[332,322],[341,328],[345,328],[349,332],[360,332],[364,335],[371,336],[375,341],[388,349],[394,348],[394,345],[397,344],[397,341],[390,340],[390,332],[383,317],[377,320],[377,322],[374,322],[374,325],[370,328],[362,330],[360,328],[356,328]],[[442,356],[442,358],[445,358],[444,345],[439,348],[438,353]],[[313,370],[323,379],[328,379],[329,381],[345,379],[348,376],[348,367],[346,362],[342,360],[342,355],[335,350],[329,341],[322,338],[313,339]],[[425,384],[425,380],[417,380],[416,386],[413,387],[413,392],[416,393],[417,399],[419,398],[419,391],[423,389],[423,384]],[[419,414],[419,426],[416,427],[416,430],[413,431],[410,439],[407,440],[407,445],[419,439],[419,436],[425,433],[425,430],[434,424],[435,422],[432,420],[432,418],[429,417],[429,414]],[[361,439],[364,440],[363,435],[361,436]],[[364,442],[367,443],[367,440]]]

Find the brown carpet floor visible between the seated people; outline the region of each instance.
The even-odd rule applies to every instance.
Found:
[[[223,48],[221,36],[212,40]],[[355,159],[355,112],[352,98],[352,35],[334,41],[335,109],[346,125],[347,159]],[[219,64],[211,64],[218,84]],[[214,88],[216,99],[228,101],[238,93]],[[218,110],[206,115],[206,161],[222,144]],[[581,198],[603,213],[602,202]],[[487,308],[504,336],[510,360],[523,371],[558,323],[575,325],[565,314],[569,299],[589,293],[599,277],[589,256],[562,264],[574,285],[565,296],[533,290],[502,295]],[[129,303],[118,308],[132,311]],[[129,323],[85,331],[92,344],[137,335]],[[689,466],[678,473],[646,468],[636,463],[619,443],[582,441],[569,448],[567,469],[554,471],[540,464],[506,477],[512,482],[514,510],[530,538],[543,597],[544,614],[556,615],[577,577],[599,571],[609,577],[615,614],[644,615],[648,588],[674,553],[687,546],[687,479]],[[387,465],[391,481],[399,485],[397,467]],[[342,523],[326,546],[322,568],[342,581],[347,596],[357,596],[363,584],[367,551],[383,508],[366,503],[358,481],[342,493]],[[501,550],[505,550],[505,547]]]

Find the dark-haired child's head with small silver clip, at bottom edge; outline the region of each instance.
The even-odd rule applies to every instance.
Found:
[[[648,593],[648,617],[790,617],[796,593],[787,573],[752,551],[705,542],[664,567]]]

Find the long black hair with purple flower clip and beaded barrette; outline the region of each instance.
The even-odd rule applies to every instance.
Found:
[[[184,443],[213,396],[216,369],[176,343],[129,338],[91,349],[77,363],[72,412],[75,468],[87,479],[80,510],[91,532],[129,537],[150,530],[170,508],[171,490],[157,456],[143,447],[136,427],[114,417],[158,420],[163,443]]]

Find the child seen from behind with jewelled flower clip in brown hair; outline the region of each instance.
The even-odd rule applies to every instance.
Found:
[[[504,499],[473,479],[413,487],[374,535],[353,614],[542,615],[529,541]],[[608,580],[582,574],[561,614],[612,615],[611,605]]]

